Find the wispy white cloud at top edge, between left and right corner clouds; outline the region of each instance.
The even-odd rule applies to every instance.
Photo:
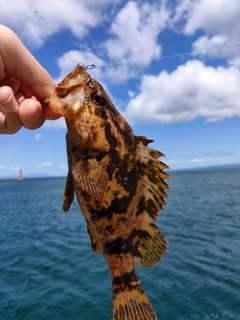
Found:
[[[148,65],[152,58],[160,56],[157,37],[169,17],[164,3],[157,8],[147,2],[138,5],[129,1],[119,11],[110,29],[113,37],[103,44],[112,60]]]

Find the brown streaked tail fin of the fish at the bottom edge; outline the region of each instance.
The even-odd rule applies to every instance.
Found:
[[[122,278],[122,277],[121,277]],[[124,283],[113,281],[113,315],[114,320],[157,320],[140,282]],[[126,280],[126,279],[125,279]]]

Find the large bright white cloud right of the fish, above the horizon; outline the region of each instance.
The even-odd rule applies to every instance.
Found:
[[[145,75],[124,112],[131,123],[161,124],[240,116],[240,70],[188,61],[172,73]]]

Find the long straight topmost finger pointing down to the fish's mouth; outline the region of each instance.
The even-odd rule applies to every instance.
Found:
[[[6,75],[25,84],[38,99],[52,94],[55,85],[17,35],[0,25],[0,80]]]

